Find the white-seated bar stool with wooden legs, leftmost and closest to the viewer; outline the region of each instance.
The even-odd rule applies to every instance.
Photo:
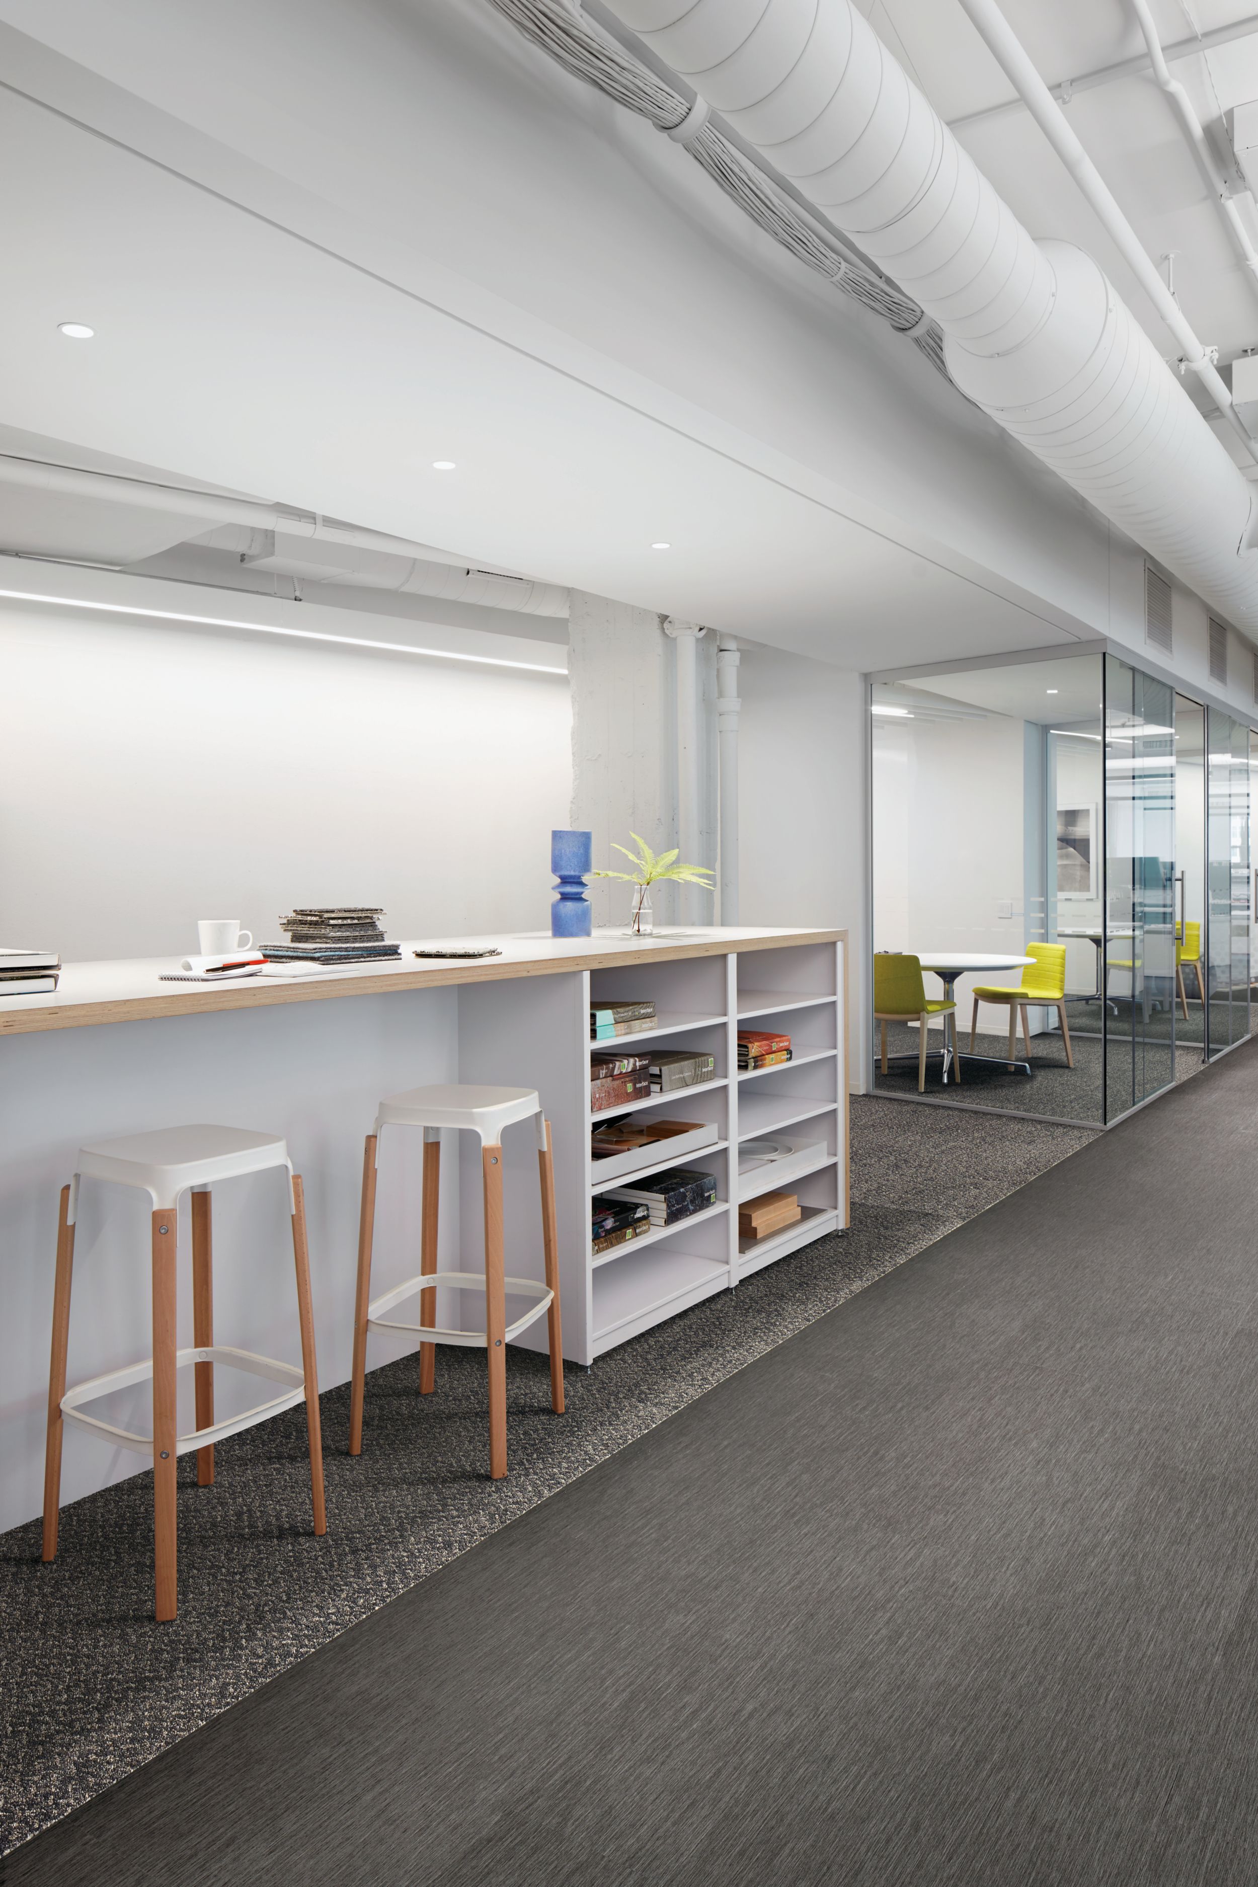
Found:
[[[215,1179],[266,1172],[283,1166],[289,1174],[292,1211],[292,1257],[296,1261],[296,1300],[302,1327],[302,1368],[230,1349],[213,1340],[213,1261],[209,1187]],[[66,1391],[66,1349],[70,1342],[70,1274],[74,1268],[74,1227],[83,1179],[130,1185],[153,1200],[153,1355],[124,1370],[109,1370]],[[183,1193],[192,1193],[192,1349],[175,1349],[175,1242],[177,1208]],[[175,1372],[196,1364],[196,1428],[175,1432]],[[243,1415],[213,1419],[215,1362],[262,1376],[283,1385],[283,1393]],[[153,1378],[153,1436],[117,1428],[85,1413],[85,1404]],[[309,1300],[309,1247],[306,1242],[306,1200],[302,1181],[283,1140],[251,1134],[238,1127],[162,1127],[153,1134],[126,1134],[79,1147],[74,1179],[60,1193],[57,1227],[57,1281],[53,1287],[53,1361],[47,1393],[47,1453],[43,1466],[43,1559],[57,1557],[57,1519],[60,1510],[60,1444],[64,1423],[102,1434],[117,1447],[134,1449],[153,1461],[153,1547],[157,1617],[175,1617],[175,1461],[196,1449],[198,1485],[213,1481],[213,1444],[241,1428],[294,1408],[306,1398],[309,1428],[309,1481],[315,1532],[326,1532],[323,1504],[323,1447],[319,1436],[319,1379],[315,1370],[315,1317]]]

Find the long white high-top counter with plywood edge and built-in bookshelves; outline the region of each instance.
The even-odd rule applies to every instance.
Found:
[[[396,962],[217,985],[162,983],[162,970],[177,970],[177,959],[72,962],[55,994],[0,998],[0,1527],[40,1508],[57,1196],[89,1142],[198,1121],[285,1136],[306,1181],[323,1389],[349,1376],[362,1142],[383,1094],[445,1081],[538,1089],[555,1134],[570,1362],[592,1364],[847,1225],[845,932],[739,927],[630,938],[602,930],[579,942],[490,936],[419,947],[441,944],[502,955],[415,959],[417,945],[407,942]],[[656,1006],[651,1028],[619,1045],[709,1053],[713,1079],[594,1115],[590,1004],[615,1000]],[[739,1028],[788,1034],[794,1059],[739,1070]],[[592,1159],[590,1130],[613,1115],[662,1115],[703,1128],[702,1147],[683,1164],[717,1179],[717,1202],[594,1255],[590,1200],[632,1177],[607,1177]],[[438,1261],[441,1270],[481,1270],[479,1147],[464,1151],[456,1138],[441,1147]],[[739,1200],[773,1191],[775,1181],[762,1155],[743,1149],[764,1140],[790,1142],[783,1185],[798,1196],[802,1217],[753,1244],[739,1238]],[[664,1142],[660,1157],[653,1153],[634,1172],[647,1177],[673,1164]],[[507,1128],[504,1177],[507,1272],[541,1277],[532,1132]],[[389,1128],[379,1157],[375,1293],[417,1270],[419,1179],[417,1134]],[[192,1334],[187,1251],[181,1211],[181,1344]],[[147,1253],[143,1202],[121,1187],[85,1185],[72,1379],[149,1353]],[[468,1327],[477,1315],[466,1293],[438,1304],[438,1321],[460,1315]],[[298,1361],[287,1194],[268,1176],[215,1189],[215,1332],[241,1349]],[[543,1332],[538,1325],[521,1344],[543,1347]],[[406,1338],[372,1336],[368,1368],[409,1347]],[[257,1400],[247,1378],[219,1374],[223,1415],[234,1411],[236,1393],[241,1408]],[[130,1417],[141,1427],[143,1410],[119,1410],[119,1419]],[[370,1432],[372,1378],[366,1421]],[[343,1445],[336,1423],[328,1445]],[[415,1445],[422,1447],[419,1410]],[[64,1498],[138,1472],[136,1459],[91,1436],[68,1438]]]

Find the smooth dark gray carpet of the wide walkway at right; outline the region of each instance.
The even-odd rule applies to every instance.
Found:
[[[1258,1045],[257,1689],[8,1887],[1250,1887],[1256,1121]]]

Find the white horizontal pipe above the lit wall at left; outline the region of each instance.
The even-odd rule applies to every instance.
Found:
[[[507,600],[505,589],[498,600],[490,600],[490,594],[473,596],[472,591],[481,577],[498,574],[470,570],[464,559],[451,551],[436,549],[430,543],[413,543],[409,538],[394,538],[385,530],[345,525],[339,519],[323,517],[319,511],[294,511],[279,504],[262,504],[255,498],[226,498],[213,491],[189,491],[183,485],[157,485],[149,479],[121,477],[115,472],[83,472],[79,466],[47,464],[41,459],[17,459],[8,453],[0,453],[0,483],[25,485],[30,491],[49,491],[68,498],[130,504],[149,511],[164,511],[172,517],[196,517],[211,525],[279,530],[289,538],[353,545],[362,551],[383,551],[407,560],[415,560],[419,555],[428,562],[428,568],[449,564],[455,583],[453,589],[426,589],[422,591],[426,596],[490,602],[490,608],[524,610],[528,615],[568,615],[568,591],[556,583],[528,585],[536,593],[532,604],[519,600],[528,579],[498,577],[509,589],[511,600]],[[460,576],[466,579],[466,589],[458,587]],[[332,581],[332,577],[324,577],[324,581]],[[411,587],[419,589],[419,583]]]

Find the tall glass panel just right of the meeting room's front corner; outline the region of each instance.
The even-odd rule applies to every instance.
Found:
[[[1175,696],[1105,657],[1105,1119],[1175,1079]]]

